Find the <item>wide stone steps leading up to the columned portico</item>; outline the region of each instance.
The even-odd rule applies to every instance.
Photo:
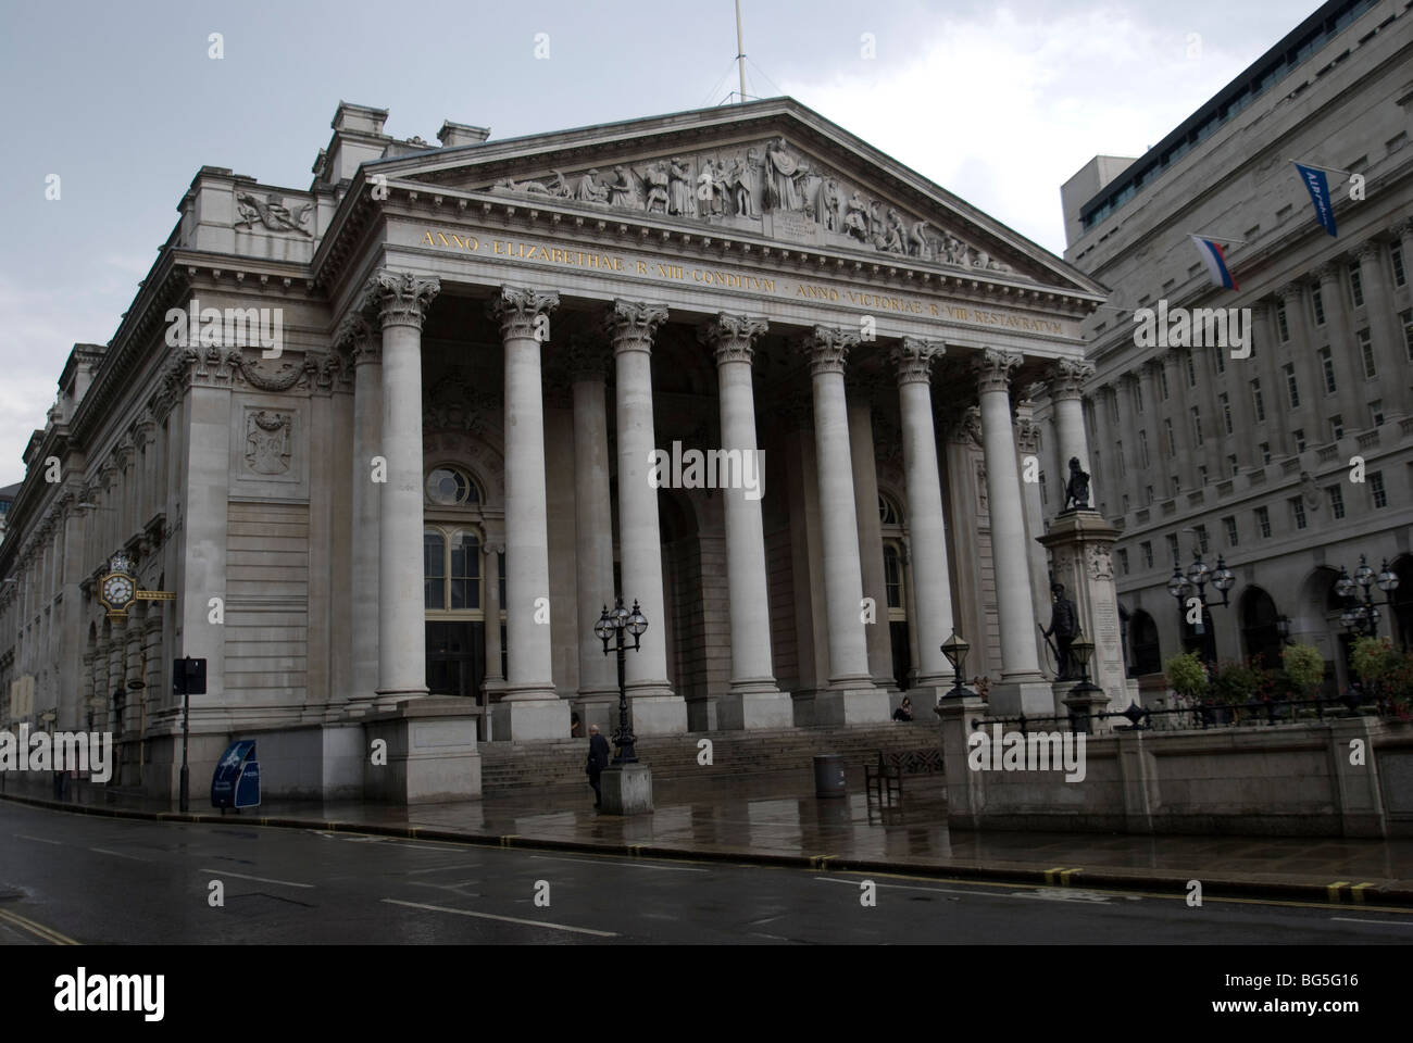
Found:
[[[691,777],[697,769],[697,743],[712,741],[712,765],[733,774],[810,769],[817,753],[838,753],[848,767],[872,763],[879,750],[906,753],[938,750],[935,722],[783,728],[759,732],[688,732],[650,735],[639,741],[639,759],[650,765],[654,780]],[[609,741],[612,748],[612,739]],[[485,742],[480,753],[483,790],[527,786],[582,786],[588,739],[550,742]]]

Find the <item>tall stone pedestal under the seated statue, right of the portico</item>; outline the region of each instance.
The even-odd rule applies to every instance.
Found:
[[[1119,530],[1096,510],[1068,510],[1050,524],[1039,543],[1051,553],[1054,581],[1080,615],[1080,627],[1094,642],[1089,680],[1108,698],[1108,709],[1129,705],[1119,632],[1119,594],[1113,585],[1113,541]]]

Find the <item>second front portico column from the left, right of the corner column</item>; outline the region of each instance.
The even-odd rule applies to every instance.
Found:
[[[550,536],[544,490],[544,390],[540,343],[558,294],[502,287],[490,305],[506,358],[506,697],[510,739],[569,733],[569,707],[554,691]],[[544,601],[541,601],[544,599]],[[550,606],[552,609],[552,606]]]

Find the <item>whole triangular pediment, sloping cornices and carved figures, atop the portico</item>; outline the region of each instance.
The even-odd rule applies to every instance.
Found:
[[[389,181],[681,223],[784,249],[1104,295],[989,215],[793,99],[486,141],[384,160]],[[712,232],[719,228],[719,232]]]

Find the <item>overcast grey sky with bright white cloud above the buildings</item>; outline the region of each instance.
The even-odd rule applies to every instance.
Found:
[[[797,98],[1060,253],[1061,182],[1142,154],[1316,7],[742,0],[747,93]],[[705,107],[736,89],[735,33],[732,0],[0,0],[0,485],[202,164],[307,188],[341,99],[428,141],[444,119],[496,139]]]

